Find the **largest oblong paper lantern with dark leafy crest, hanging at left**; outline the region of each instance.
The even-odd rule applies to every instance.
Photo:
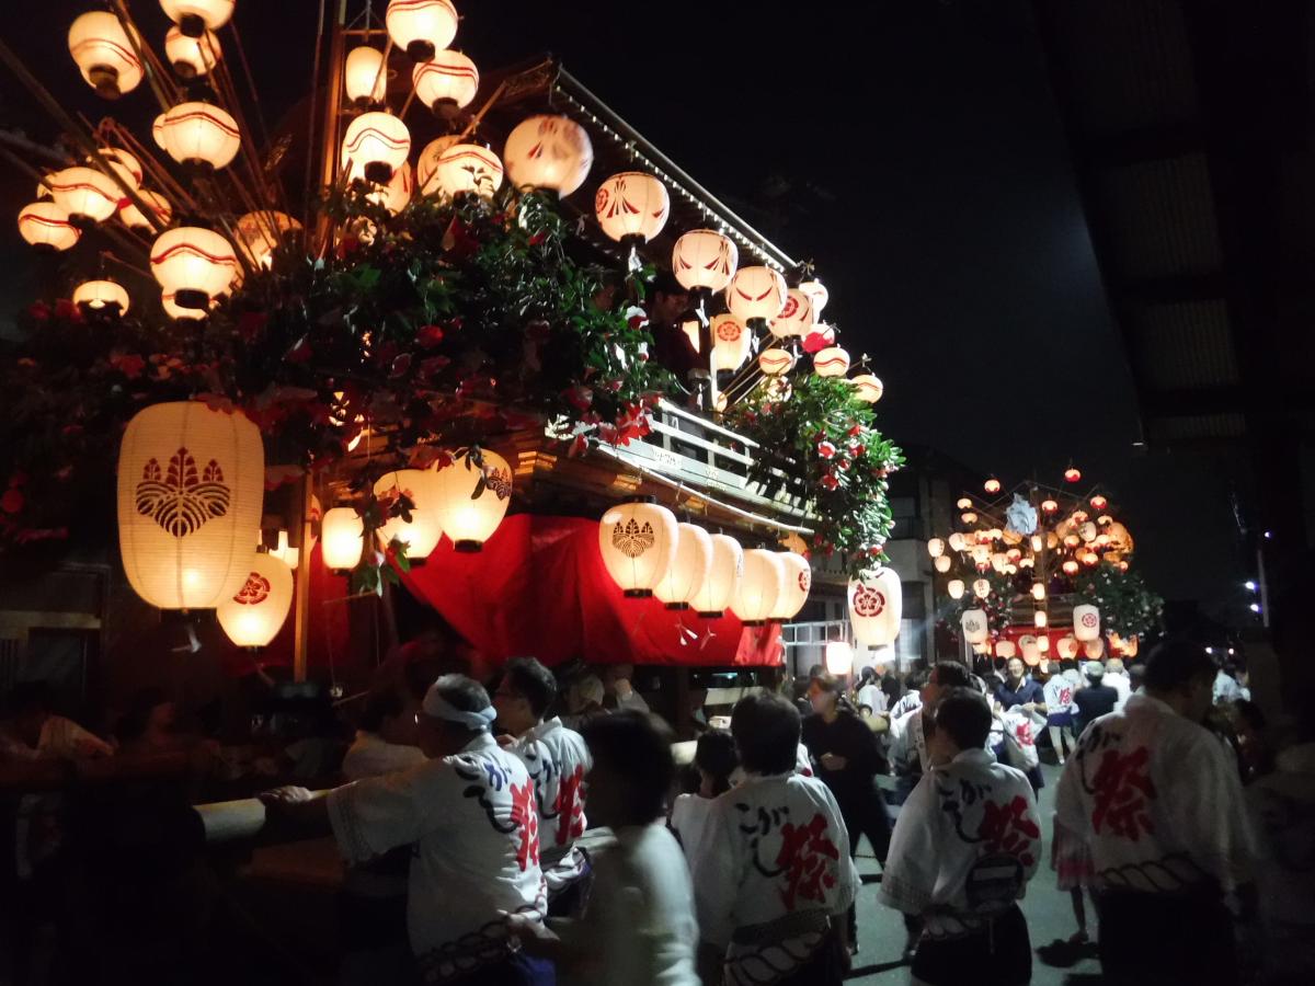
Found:
[[[250,571],[264,501],[260,430],[199,401],[151,405],[118,452],[118,543],[128,581],[160,609],[213,609]]]

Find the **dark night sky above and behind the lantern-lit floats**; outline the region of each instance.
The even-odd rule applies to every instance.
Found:
[[[317,4],[263,0],[259,17],[255,5],[238,4],[238,25],[276,117],[305,92]],[[4,37],[21,41],[66,105],[97,118],[105,105],[64,46],[68,22],[89,7],[26,5],[22,37],[13,26]],[[132,7],[163,35],[156,4]],[[1057,481],[1072,459],[1114,490],[1155,588],[1216,611],[1237,602],[1247,572],[1218,464],[1134,450],[1131,376],[1027,3],[458,8],[455,46],[477,64],[552,51],[782,250],[813,258],[831,292],[827,321],[851,354],[872,355],[886,384],[881,425],[897,440],[934,446],[1006,485],[1034,471]],[[149,112],[145,96],[137,101]],[[0,126],[16,125],[54,135],[7,75]],[[0,209],[17,214],[29,184],[0,164]],[[26,267],[12,222],[0,237],[4,268]],[[21,273],[0,283],[0,331],[33,284]]]

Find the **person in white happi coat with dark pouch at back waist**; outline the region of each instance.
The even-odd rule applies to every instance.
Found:
[[[967,688],[940,697],[932,769],[905,802],[880,899],[920,918],[913,979],[928,986],[1031,979],[1027,923],[1015,901],[1041,852],[1027,778],[986,751],[992,709]]]

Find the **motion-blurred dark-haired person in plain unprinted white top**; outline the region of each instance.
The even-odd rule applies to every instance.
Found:
[[[593,757],[589,814],[614,841],[594,861],[579,920],[512,918],[530,954],[551,958],[581,986],[698,986],[698,927],[689,869],[664,822],[676,777],[672,734],[654,715],[623,710],[585,726]]]

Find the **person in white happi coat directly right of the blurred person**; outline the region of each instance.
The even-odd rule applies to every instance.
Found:
[[[694,849],[704,982],[839,986],[859,887],[840,806],[796,773],[800,715],[786,699],[742,698],[731,734],[748,777],[713,802]]]

